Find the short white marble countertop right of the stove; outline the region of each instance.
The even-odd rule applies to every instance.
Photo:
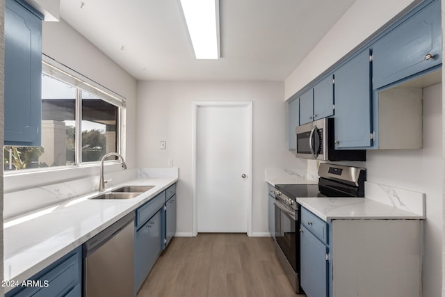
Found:
[[[368,198],[297,198],[326,222],[334,219],[422,219],[423,216]]]

